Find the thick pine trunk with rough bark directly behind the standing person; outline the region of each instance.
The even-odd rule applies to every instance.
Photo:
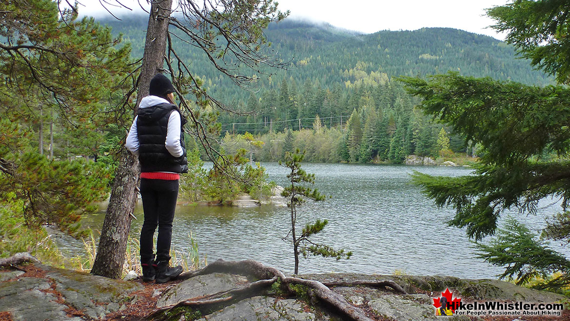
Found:
[[[168,34],[168,19],[172,0],[153,2],[148,19],[143,67],[139,78],[137,107],[141,99],[148,95],[150,79],[162,70]],[[135,110],[136,114],[136,110]],[[131,228],[131,213],[135,209],[139,182],[139,161],[126,148],[121,150],[120,164],[115,172],[115,180],[105,221],[101,229],[99,249],[92,274],[108,278],[120,278],[125,261],[128,234]]]

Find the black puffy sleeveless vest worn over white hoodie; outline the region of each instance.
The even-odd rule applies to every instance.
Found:
[[[180,144],[184,151],[182,156],[170,155],[164,145],[168,118],[173,111],[178,111],[178,107],[167,103],[139,109],[137,133],[139,135],[141,172],[188,172],[186,144],[184,143],[182,128],[180,130]],[[180,115],[180,123],[181,127],[186,123],[186,119],[182,115]]]

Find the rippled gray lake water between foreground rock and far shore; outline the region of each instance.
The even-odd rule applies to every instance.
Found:
[[[287,170],[276,163],[263,164],[270,180],[286,185]],[[446,226],[454,216],[451,208],[438,209],[410,184],[414,170],[431,175],[462,176],[469,168],[443,166],[303,164],[316,174],[315,186],[332,198],[307,202],[298,209],[299,226],[317,218],[329,224],[315,239],[335,248],[353,251],[349,260],[310,257],[300,260],[299,273],[353,272],[413,275],[444,274],[461,278],[494,278],[501,267],[474,258],[474,249],[465,230]],[[560,210],[547,206],[536,216],[512,212],[532,229],[544,225],[544,217]],[[137,206],[131,233],[138,235],[143,221]],[[104,213],[88,218],[86,224],[99,230]],[[503,216],[503,217],[506,217]],[[287,273],[294,270],[290,243],[282,241],[290,229],[288,208],[260,206],[230,208],[221,206],[178,206],[173,227],[173,249],[187,253],[190,232],[197,239],[207,261],[255,259]],[[488,238],[487,238],[488,239]],[[63,248],[81,247],[76,242]],[[555,250],[570,254],[567,247],[552,244]]]

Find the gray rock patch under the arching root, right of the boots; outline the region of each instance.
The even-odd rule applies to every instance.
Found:
[[[239,284],[246,283],[247,279],[241,275],[230,275],[223,273],[212,273],[198,275],[172,287],[162,294],[156,303],[157,307],[169,306],[178,302],[215,294],[239,287]]]

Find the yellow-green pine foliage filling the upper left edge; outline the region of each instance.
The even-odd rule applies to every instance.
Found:
[[[130,47],[92,18],[77,19],[77,10],[49,0],[3,2],[0,10],[0,206],[18,204],[13,216],[32,229],[71,234],[104,199],[111,175],[103,162],[71,162],[68,152],[91,156],[103,141],[98,127],[123,124],[113,109],[128,105],[121,96],[129,93],[119,83],[134,80]],[[44,123],[55,136],[49,156]],[[58,134],[73,135],[74,148]]]

